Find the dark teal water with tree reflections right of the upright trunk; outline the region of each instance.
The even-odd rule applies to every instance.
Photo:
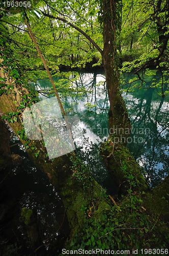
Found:
[[[125,79],[130,76],[125,74]],[[136,137],[136,143],[132,140],[128,147],[143,166],[149,184],[155,187],[169,173],[169,97],[162,98],[159,88],[151,88],[153,79],[158,81],[158,75],[145,76],[145,86],[138,89],[139,83],[132,92],[124,93],[124,99],[132,124],[131,138]]]

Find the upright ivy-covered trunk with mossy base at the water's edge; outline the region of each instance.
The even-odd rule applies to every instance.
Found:
[[[124,146],[130,135],[131,125],[125,102],[120,91],[119,59],[117,54],[118,33],[121,27],[122,1],[102,1],[102,23],[104,48],[102,53],[105,70],[106,86],[110,102],[109,110],[109,139],[101,147],[112,179],[119,186],[119,193],[127,193],[129,189],[128,178],[125,172],[132,173],[138,181],[137,189],[147,190],[148,184],[140,168],[137,166],[130,152]],[[123,166],[127,166],[123,172]]]

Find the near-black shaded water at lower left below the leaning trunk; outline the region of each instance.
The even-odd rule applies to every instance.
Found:
[[[11,145],[18,142],[18,138],[14,136]],[[26,231],[20,222],[22,207],[33,209],[36,213],[41,241],[47,249],[44,255],[52,255],[62,248],[69,234],[69,225],[60,195],[50,184],[49,179],[30,161],[21,144],[11,147],[11,153],[19,154],[22,163],[12,169],[0,186],[0,201],[6,213],[3,222],[0,220],[0,226],[3,227],[2,237],[12,244],[11,250],[17,250],[19,246],[15,248],[15,244],[19,242],[21,251],[18,251],[19,254],[9,255],[32,255]]]

